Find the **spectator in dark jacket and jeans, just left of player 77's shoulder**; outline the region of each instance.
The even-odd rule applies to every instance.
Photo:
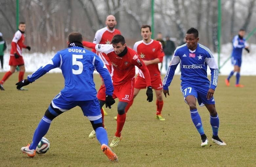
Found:
[[[168,62],[171,61],[172,59],[172,54],[175,50],[175,44],[173,41],[170,40],[169,36],[166,36],[166,41],[165,41],[165,47],[164,47],[164,54],[165,54],[165,70],[167,71],[168,68]]]

